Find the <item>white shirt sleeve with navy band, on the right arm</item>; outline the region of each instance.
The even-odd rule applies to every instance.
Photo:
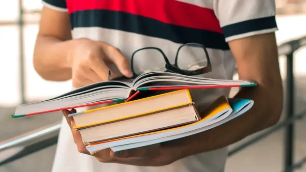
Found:
[[[214,0],[225,41],[277,31],[274,0]]]

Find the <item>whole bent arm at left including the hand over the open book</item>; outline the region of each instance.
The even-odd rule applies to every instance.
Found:
[[[62,0],[43,0],[40,30],[34,50],[34,68],[46,80],[72,79],[80,88],[108,79],[109,66],[115,64],[121,74],[131,77],[129,62],[115,47],[86,38],[72,39],[69,14]],[[50,4],[47,4],[50,3]],[[117,73],[112,72],[112,78]]]

